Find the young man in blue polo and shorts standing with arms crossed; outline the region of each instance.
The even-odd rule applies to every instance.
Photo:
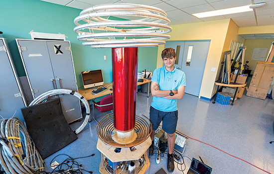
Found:
[[[156,69],[151,78],[151,93],[153,96],[149,110],[149,119],[152,123],[150,138],[152,145],[149,154],[153,155],[153,140],[155,131],[162,121],[162,129],[167,133],[168,155],[167,170],[174,171],[173,148],[175,131],[178,120],[177,99],[182,99],[185,90],[185,74],[174,66],[176,53],[173,48],[162,51],[164,67]]]

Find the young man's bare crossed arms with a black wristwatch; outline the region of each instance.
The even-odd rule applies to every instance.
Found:
[[[172,90],[173,96],[170,96],[170,90],[160,90],[158,83],[151,82],[151,93],[152,96],[164,97],[168,99],[182,99],[184,96],[185,87],[180,86],[178,90]]]

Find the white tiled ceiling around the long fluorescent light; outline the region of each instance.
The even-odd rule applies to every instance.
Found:
[[[274,25],[274,0],[42,0],[78,9],[85,9],[96,4],[138,3],[163,9],[171,25],[202,22],[231,18],[239,27]],[[193,13],[231,8],[253,3],[266,2],[266,5],[254,11],[197,18]],[[248,36],[249,38],[251,36]],[[255,35],[254,35],[254,38]],[[272,37],[273,38],[273,37]]]

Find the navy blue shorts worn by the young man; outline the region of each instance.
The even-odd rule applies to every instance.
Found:
[[[173,134],[176,131],[178,110],[172,112],[164,112],[150,106],[149,120],[152,123],[153,131],[157,130],[161,121],[163,121],[162,129],[168,134]]]

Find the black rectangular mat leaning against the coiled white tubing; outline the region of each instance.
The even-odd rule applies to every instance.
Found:
[[[62,112],[59,98],[21,109],[42,159],[77,139]]]

